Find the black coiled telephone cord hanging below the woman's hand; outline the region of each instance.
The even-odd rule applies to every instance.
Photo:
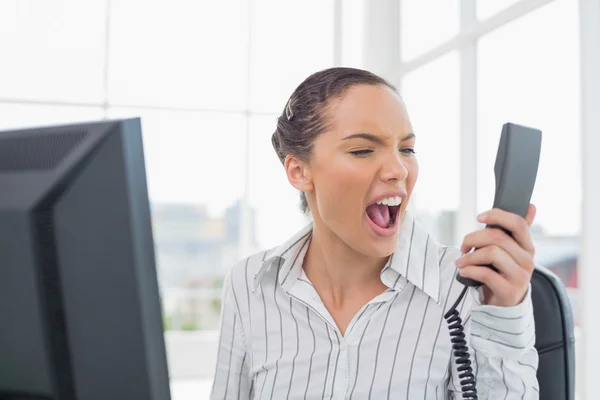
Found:
[[[460,296],[458,296],[458,300],[456,300],[454,305],[450,307],[448,312],[444,315],[444,318],[448,322],[448,329],[450,330],[450,341],[452,342],[454,357],[456,357],[455,362],[458,367],[458,377],[460,379],[463,399],[477,400],[475,375],[473,375],[469,347],[467,346],[467,341],[465,340],[465,328],[462,325],[460,313],[456,309],[458,304],[465,297],[467,290],[469,290],[469,287],[465,286]]]

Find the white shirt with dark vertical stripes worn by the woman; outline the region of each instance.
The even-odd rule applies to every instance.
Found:
[[[312,225],[227,276],[212,399],[458,399],[459,374],[444,313],[463,286],[460,251],[437,243],[410,215],[381,271],[388,289],[342,336],[302,261]],[[480,399],[538,399],[531,295],[515,307],[458,309]]]

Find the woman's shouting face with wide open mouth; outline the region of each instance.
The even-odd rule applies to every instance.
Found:
[[[306,165],[315,224],[366,256],[389,256],[419,172],[404,103],[385,86],[357,85],[328,118]]]

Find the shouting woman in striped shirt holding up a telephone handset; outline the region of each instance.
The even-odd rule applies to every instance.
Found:
[[[213,399],[462,398],[444,320],[457,274],[485,285],[458,305],[479,398],[539,397],[535,208],[479,216],[514,239],[483,229],[460,249],[437,243],[406,212],[415,140],[394,87],[369,72],[333,68],[295,90],[272,143],[313,222],[231,270]]]

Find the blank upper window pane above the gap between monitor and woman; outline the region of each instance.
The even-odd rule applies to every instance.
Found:
[[[111,102],[245,108],[246,0],[111,5]]]

